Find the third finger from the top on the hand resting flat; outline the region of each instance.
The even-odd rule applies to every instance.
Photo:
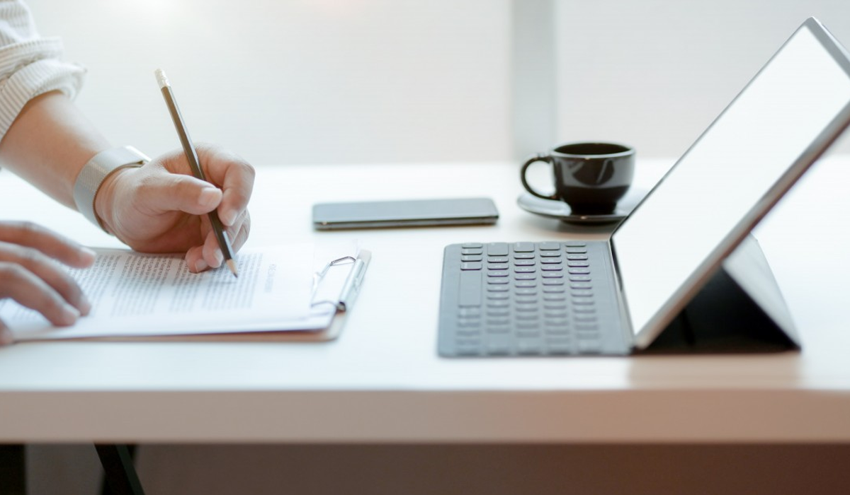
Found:
[[[56,326],[74,324],[80,317],[77,308],[65,302],[50,285],[14,263],[0,262],[0,298],[3,297],[42,313]]]

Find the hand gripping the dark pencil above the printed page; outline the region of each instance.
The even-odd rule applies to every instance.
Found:
[[[218,210],[234,251],[245,244],[254,183],[253,167],[238,156],[208,145],[197,152],[210,183],[191,175],[178,150],[106,177],[94,201],[105,227],[124,244],[141,252],[185,252],[192,272],[224,262],[208,212]]]

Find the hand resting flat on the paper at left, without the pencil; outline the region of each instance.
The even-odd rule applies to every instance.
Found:
[[[50,323],[68,326],[92,305],[57,261],[89,267],[94,251],[30,222],[0,222],[0,299],[11,297]],[[12,340],[0,320],[0,345]]]

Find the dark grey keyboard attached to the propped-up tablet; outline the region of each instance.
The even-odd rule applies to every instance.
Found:
[[[602,241],[445,248],[439,353],[445,357],[608,353],[617,306]],[[621,353],[617,351],[616,353]]]

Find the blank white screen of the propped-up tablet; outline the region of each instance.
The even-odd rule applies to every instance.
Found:
[[[635,334],[848,101],[845,71],[808,27],[796,31],[614,233]]]

